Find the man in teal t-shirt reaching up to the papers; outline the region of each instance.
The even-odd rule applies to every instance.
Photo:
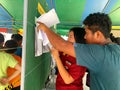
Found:
[[[87,67],[90,90],[120,90],[120,45],[110,40],[112,22],[108,14],[92,13],[85,18],[84,38],[88,44],[65,41],[45,24],[38,23],[38,30],[46,33],[55,49],[76,57],[78,65]]]

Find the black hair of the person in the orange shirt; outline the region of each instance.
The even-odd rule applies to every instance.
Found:
[[[15,40],[7,40],[4,47],[8,48],[7,53],[14,53],[17,50],[18,43]]]

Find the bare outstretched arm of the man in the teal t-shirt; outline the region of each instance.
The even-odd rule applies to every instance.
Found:
[[[38,30],[42,30],[46,33],[50,43],[55,49],[75,57],[73,43],[65,41],[63,38],[61,38],[59,35],[57,35],[55,32],[50,30],[50,28],[48,28],[46,25],[44,25],[41,22],[39,22],[39,26],[37,28]]]

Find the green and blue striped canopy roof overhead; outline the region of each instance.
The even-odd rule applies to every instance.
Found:
[[[109,14],[112,25],[120,26],[120,0],[39,0],[39,2],[46,12],[55,8],[61,22],[57,25],[57,30],[63,31],[73,26],[81,26],[84,18],[94,12]],[[23,28],[24,0],[0,0],[0,4],[12,17],[12,29]],[[0,12],[0,17],[2,14],[3,12]],[[2,23],[0,24],[1,27]]]

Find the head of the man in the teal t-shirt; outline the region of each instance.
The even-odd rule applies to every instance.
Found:
[[[88,39],[88,43],[99,43],[100,38],[107,39],[110,37],[112,22],[105,13],[90,14],[83,21],[83,24],[85,25],[85,38]]]

